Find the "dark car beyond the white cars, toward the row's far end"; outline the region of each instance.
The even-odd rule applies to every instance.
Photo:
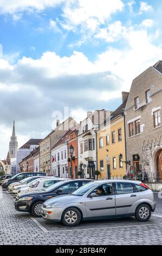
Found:
[[[15,176],[13,176],[11,179],[7,179],[3,184],[3,188],[8,188],[10,184],[16,181],[23,180],[27,177],[32,177],[32,176],[46,176],[46,173],[18,173]]]

